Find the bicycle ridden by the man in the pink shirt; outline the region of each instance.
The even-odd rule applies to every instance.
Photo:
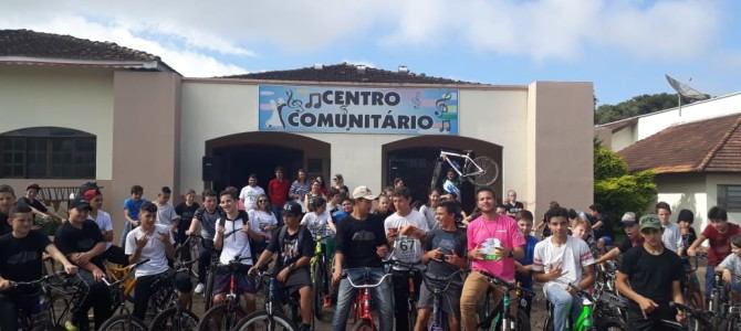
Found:
[[[516,284],[509,282],[504,279],[501,279],[494,275],[483,271],[481,273],[489,284],[495,287],[503,287],[504,295],[502,300],[491,310],[488,309],[488,306],[491,303],[490,299],[484,300],[483,314],[480,316],[480,322],[478,324],[479,330],[503,330],[503,331],[530,331],[530,318],[528,314],[518,309],[516,316],[512,316],[510,309],[512,303],[512,298],[510,292],[515,293],[515,302],[525,296],[534,296],[535,293],[532,290],[523,288]],[[493,289],[490,287],[487,291],[487,296],[491,295]]]

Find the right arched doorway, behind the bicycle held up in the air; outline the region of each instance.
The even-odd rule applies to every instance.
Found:
[[[500,168],[500,174],[491,188],[497,192],[497,197],[502,197],[502,147],[488,141],[451,136],[419,136],[397,140],[383,146],[384,184],[393,183],[394,179],[403,178],[406,185],[411,190],[415,200],[427,201],[430,179],[435,161],[441,149],[472,150],[477,156],[488,156],[493,159]],[[445,180],[443,167],[438,186]],[[473,194],[476,188],[465,182],[461,188],[462,206],[466,211],[473,209]]]

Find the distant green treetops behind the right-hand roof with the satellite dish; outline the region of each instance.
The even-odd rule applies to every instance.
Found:
[[[689,105],[690,103],[692,100],[682,98],[682,105]],[[601,125],[672,107],[677,107],[676,94],[645,94],[617,105],[597,107],[594,114],[594,122]]]

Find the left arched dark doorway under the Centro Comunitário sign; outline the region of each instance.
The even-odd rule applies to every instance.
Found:
[[[309,177],[330,174],[330,143],[300,135],[284,132],[243,132],[206,141],[203,184],[222,190],[247,184],[250,173],[258,175],[259,185],[267,189],[275,167],[283,167],[289,179],[300,168]]]

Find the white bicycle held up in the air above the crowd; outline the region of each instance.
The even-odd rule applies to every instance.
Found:
[[[432,181],[430,190],[437,188],[437,181],[440,178],[442,163],[447,162],[450,168],[458,173],[458,177],[466,179],[477,186],[487,186],[493,184],[499,178],[499,166],[494,160],[486,156],[471,158],[473,151],[466,150],[463,153],[452,151],[440,151],[435,170],[432,171]],[[459,161],[462,161],[461,166]]]

